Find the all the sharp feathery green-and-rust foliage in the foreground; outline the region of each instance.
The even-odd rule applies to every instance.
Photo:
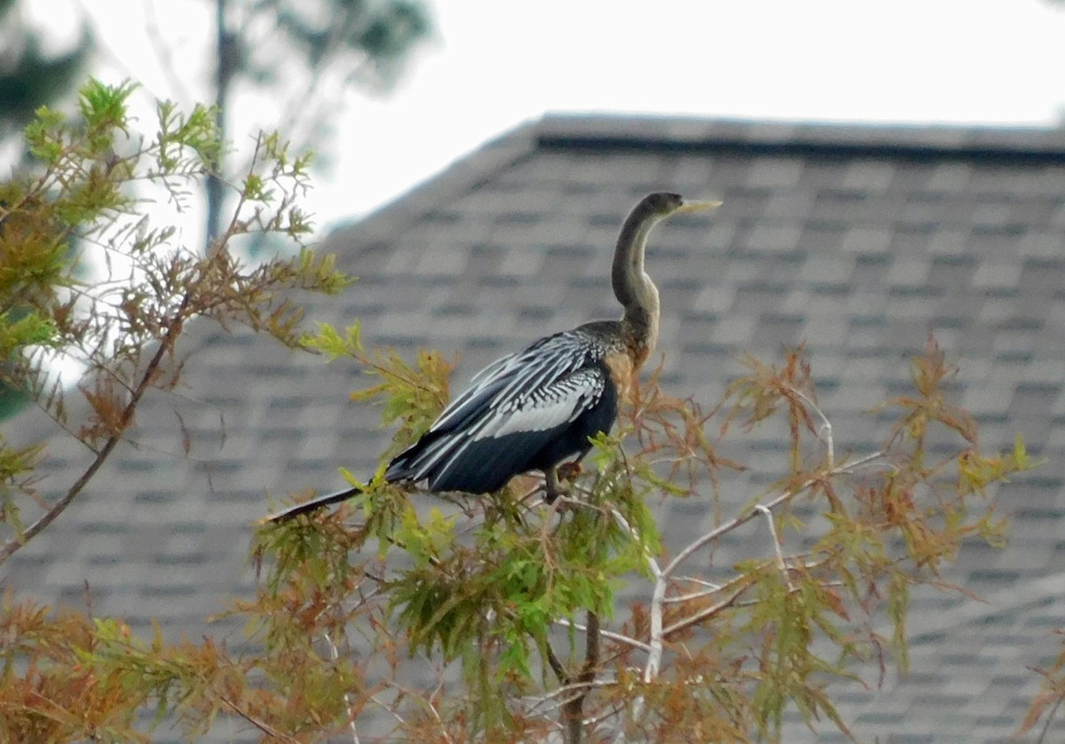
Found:
[[[837,452],[831,411],[797,350],[780,365],[746,359],[747,373],[706,410],[657,376],[636,386],[618,433],[596,439],[551,506],[532,476],[485,497],[386,483],[389,456],[446,404],[450,365],[436,352],[407,360],[367,347],[358,324],[302,327],[289,290],[337,292],[349,279],[301,246],[308,161],[277,136],[260,138],[226,233],[204,254],[177,244],[173,226],[138,211],[130,187],[158,183],[180,207],[217,162],[214,119],[161,104],[158,133],[141,140],[128,95],[93,82],[81,118],[43,110],[28,131],[39,172],[3,187],[7,379],[96,459],[59,501],[42,503],[33,472],[45,453],[0,441],[0,560],[77,498],[133,425],[144,391],[176,383],[174,343],[195,319],[358,366],[368,379],[353,398],[380,406],[394,443],[367,482],[349,476],[361,490],[347,503],[259,530],[256,595],[226,613],[245,621],[243,651],[159,631],[140,638],[118,618],[9,596],[0,738],[149,741],[143,710],[180,721],[189,739],[209,737],[219,717],[264,741],[304,742],[358,737],[384,716],[402,740],[781,741],[789,710],[848,733],[833,684],[904,668],[912,595],[941,584],[965,540],[1002,544],[988,487],[1035,464],[1019,437],[1009,451],[981,449],[932,341],[914,360],[912,391],[870,414],[888,422],[876,452]],[[256,265],[234,258],[233,241],[264,231],[297,250]],[[102,280],[93,275],[101,263]],[[70,420],[68,391],[49,382],[52,350],[85,370],[83,420]],[[719,453],[761,427],[784,433],[780,462]],[[732,476],[744,466],[771,473],[771,487],[739,491]],[[669,499],[709,518],[672,554],[653,513]],[[714,560],[725,536],[755,521],[751,557]],[[622,605],[622,588],[640,599]],[[1046,670],[1029,728],[1061,699],[1061,666]]]

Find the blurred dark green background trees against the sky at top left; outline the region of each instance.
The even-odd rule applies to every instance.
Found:
[[[340,94],[350,86],[368,93],[391,90],[432,27],[428,11],[417,0],[213,0],[210,6],[214,28],[204,29],[203,37],[213,37],[207,50],[213,60],[207,79],[201,69],[187,63],[190,50],[183,46],[179,50],[181,42],[167,29],[145,30],[152,37],[169,87],[175,88],[161,97],[213,102],[218,131],[230,142],[234,96],[262,96],[267,104],[242,107],[241,130],[271,130],[284,124],[294,145],[313,143],[314,151],[325,160],[328,146],[323,141],[341,104]],[[12,135],[37,107],[56,102],[94,71],[94,50],[105,54],[91,7],[80,23],[77,43],[54,53],[47,51],[54,45],[45,44],[43,30],[28,20],[28,7],[27,2],[0,0],[0,38],[5,39],[0,45],[0,138],[13,143]],[[144,11],[147,18],[154,18],[152,3]],[[138,71],[129,70],[129,77],[140,78]],[[281,87],[298,91],[297,99],[276,95]],[[305,126],[294,127],[291,119]],[[7,159],[0,158],[0,162]],[[234,160],[233,150],[223,152],[215,164],[217,177],[208,179],[209,240],[220,232],[225,189],[219,178],[227,177],[229,165],[241,169],[229,162]]]

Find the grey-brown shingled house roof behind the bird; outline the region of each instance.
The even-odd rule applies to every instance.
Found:
[[[839,692],[863,739],[1001,741],[1065,612],[1062,183],[1058,130],[548,116],[331,234],[324,249],[360,281],[310,316],[359,319],[367,341],[400,352],[457,353],[464,381],[545,331],[617,314],[606,266],[644,193],[723,199],[711,217],[658,228],[649,249],[670,391],[711,403],[743,352],[779,359],[804,342],[837,447],[869,451],[884,430],[864,411],[904,388],[934,331],[961,365],[954,389],[984,447],[1021,432],[1047,458],[997,489],[1010,546],[967,546],[946,577],[981,601],[916,593],[908,676]],[[185,387],[146,401],[134,442],[4,566],[4,584],[82,605],[87,582],[94,611],[196,637],[251,591],[250,523],[267,494],[335,487],[338,466],[365,469],[384,448],[378,411],[348,400],[363,382],[343,361],[207,325],[183,351]],[[45,494],[85,459],[36,414],[17,436],[50,437]],[[741,442],[736,456],[767,467],[730,480],[726,505],[779,476],[779,444],[771,433]],[[690,500],[660,510],[673,545],[711,522]],[[766,539],[752,524],[715,562]],[[791,719],[786,740],[841,741],[824,728]]]

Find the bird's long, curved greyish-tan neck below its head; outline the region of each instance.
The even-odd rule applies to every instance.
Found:
[[[643,363],[658,341],[658,288],[643,269],[643,254],[651,228],[659,215],[641,209],[625,220],[618,236],[610,273],[613,294],[625,309],[621,319],[623,340],[635,365]]]

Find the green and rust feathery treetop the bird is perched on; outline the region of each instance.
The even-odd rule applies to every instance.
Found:
[[[398,424],[396,448],[446,399],[447,367],[437,355],[407,365],[367,352],[358,326],[323,326],[305,343],[347,355],[375,378],[355,398],[378,401],[386,423]],[[848,732],[831,681],[867,673],[870,661],[882,674],[887,647],[905,668],[911,593],[937,580],[963,540],[1001,545],[986,489],[1034,464],[1019,438],[1009,452],[980,450],[931,341],[914,361],[914,393],[874,411],[895,421],[883,449],[861,456],[837,457],[801,352],[781,367],[752,358],[748,369],[715,409],[720,435],[780,420],[791,442],[786,469],[770,491],[730,498],[743,503],[735,516],[722,515],[677,555],[663,555],[649,504],[687,498],[712,508],[726,473],[740,466],[718,455],[712,415],[652,381],[637,390],[621,435],[595,442],[590,472],[559,506],[530,501],[530,479],[499,495],[444,498],[384,484],[379,471],[335,514],[262,532],[261,556],[273,566],[266,583],[299,576],[286,556],[308,533],[347,530],[355,544],[375,541],[376,551],[353,562],[380,582],[363,610],[380,618],[373,645],[387,649],[390,672],[428,659],[439,669],[457,665],[464,680],[445,701],[432,688],[419,698],[406,686],[397,692],[397,678],[378,677],[405,737],[518,740],[560,726],[568,741],[619,730],[652,741],[690,731],[779,741],[788,708],[812,726],[829,721]],[[953,441],[950,454],[933,460],[932,440],[937,453]],[[799,516],[812,507],[819,533]],[[764,557],[724,579],[689,566],[754,519],[772,520],[779,535]],[[813,549],[791,547],[800,540]],[[649,582],[648,601],[617,605],[620,587]],[[878,618],[894,628],[888,638],[871,630]],[[608,621],[619,629],[600,635]],[[570,727],[573,715],[594,723]]]

